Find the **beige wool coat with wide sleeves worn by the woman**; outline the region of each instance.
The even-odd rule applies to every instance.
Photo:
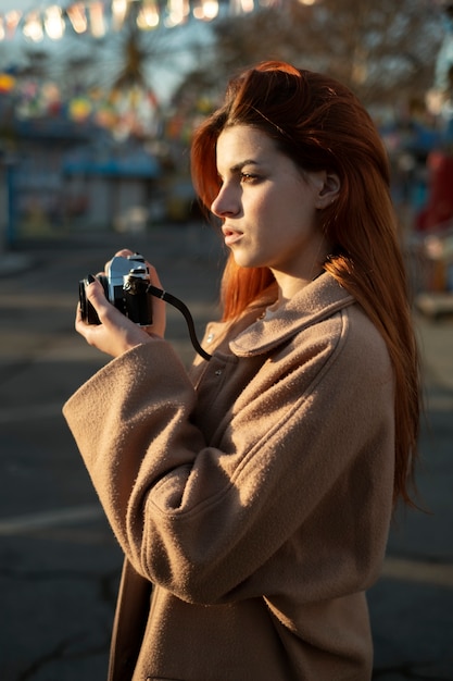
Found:
[[[392,509],[393,375],[327,273],[207,327],[190,375],[155,340],[64,414],[125,565],[111,681],[366,681],[364,591]]]

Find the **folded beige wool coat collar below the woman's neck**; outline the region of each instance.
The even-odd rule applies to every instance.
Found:
[[[291,300],[248,326],[230,342],[230,350],[238,357],[268,352],[302,329],[330,317],[353,302],[355,302],[353,296],[325,272]]]

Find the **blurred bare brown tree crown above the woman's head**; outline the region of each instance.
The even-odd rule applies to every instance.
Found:
[[[417,99],[432,85],[442,40],[437,7],[432,0],[318,0],[313,5],[287,0],[226,17],[213,25],[215,57],[203,81],[211,75],[215,88],[243,66],[282,59],[329,73],[367,106]],[[205,70],[200,62],[199,71]],[[196,82],[191,74],[187,87]]]

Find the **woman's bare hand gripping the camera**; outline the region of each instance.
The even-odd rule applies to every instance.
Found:
[[[121,250],[115,256],[123,258],[133,255],[130,250]],[[147,262],[150,271],[150,280],[153,286],[162,288],[155,269]],[[159,298],[152,298],[152,317],[151,326],[139,326],[119,310],[117,310],[105,298],[102,284],[95,280],[85,289],[87,300],[92,305],[98,313],[100,324],[87,324],[81,319],[80,306],[77,307],[76,331],[98,350],[110,355],[111,357],[119,357],[123,352],[130,350],[137,345],[143,343],[152,343],[153,337],[163,337],[165,333],[165,302]]]

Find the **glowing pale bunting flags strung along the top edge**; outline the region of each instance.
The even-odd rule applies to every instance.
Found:
[[[76,0],[64,5],[40,3],[22,12],[0,12],[0,40],[11,40],[17,33],[27,40],[39,42],[46,36],[60,40],[67,29],[75,34],[90,34],[102,38],[109,30],[121,30],[126,17],[134,11],[137,26],[152,30],[159,26],[172,28],[190,18],[204,22],[215,20],[221,5],[231,15],[247,14],[257,8],[276,7],[282,0]],[[316,0],[299,0],[314,4]]]

